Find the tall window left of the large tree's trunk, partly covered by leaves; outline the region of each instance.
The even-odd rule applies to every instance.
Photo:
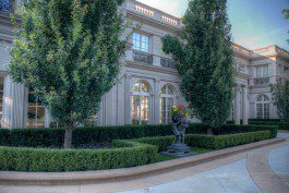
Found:
[[[27,128],[45,128],[45,106],[34,92],[28,94],[27,118]]]

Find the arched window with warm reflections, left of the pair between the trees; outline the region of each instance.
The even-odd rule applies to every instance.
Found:
[[[150,87],[142,81],[135,83],[132,88],[131,97],[131,119],[132,124],[148,124]]]

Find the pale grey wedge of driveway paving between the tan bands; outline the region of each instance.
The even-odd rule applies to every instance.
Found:
[[[243,159],[173,182],[121,193],[262,193],[245,164]]]

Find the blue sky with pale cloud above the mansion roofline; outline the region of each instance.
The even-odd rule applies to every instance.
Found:
[[[189,0],[137,1],[181,17]],[[284,9],[289,9],[289,0],[228,0],[233,41],[249,49],[277,45],[289,50],[289,20]]]

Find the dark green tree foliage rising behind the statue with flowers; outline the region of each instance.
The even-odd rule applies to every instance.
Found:
[[[233,99],[230,28],[226,0],[191,0],[180,37],[162,37],[190,108],[210,126],[225,123]]]

